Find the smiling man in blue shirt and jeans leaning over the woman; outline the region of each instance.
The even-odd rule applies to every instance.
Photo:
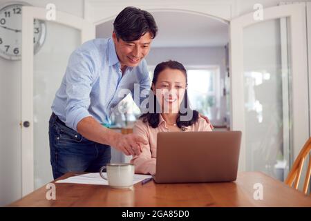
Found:
[[[113,27],[112,38],[87,41],[70,55],[49,122],[55,179],[68,171],[98,172],[111,160],[110,146],[140,155],[147,144],[138,135],[122,135],[103,125],[123,99],[118,96],[122,89],[132,95],[134,84],[149,90],[144,57],[158,27],[149,12],[132,7],[117,15]]]

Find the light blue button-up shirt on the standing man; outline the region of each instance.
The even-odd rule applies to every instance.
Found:
[[[52,111],[75,131],[79,121],[88,116],[110,124],[113,108],[128,94],[124,89],[133,96],[134,84],[139,84],[140,91],[151,85],[144,59],[138,66],[126,68],[123,76],[120,68],[113,39],[86,41],[70,55]]]

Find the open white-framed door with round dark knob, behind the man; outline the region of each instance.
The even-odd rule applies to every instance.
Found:
[[[48,12],[24,6],[22,13],[22,195],[53,180],[48,142],[50,106],[71,52],[95,38],[95,27],[85,19],[56,11],[55,19],[50,20],[53,15]],[[40,27],[46,28],[44,44],[35,55],[34,19],[44,22]]]

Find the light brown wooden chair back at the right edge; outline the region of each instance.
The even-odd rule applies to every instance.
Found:
[[[292,184],[294,183],[294,189],[298,189],[301,171],[303,169],[303,163],[305,162],[305,159],[308,157],[310,150],[311,150],[311,137],[309,137],[309,140],[305,143],[299,155],[297,156],[296,160],[294,161],[292,170],[290,171],[288,177],[285,180],[285,184],[288,184],[289,186],[292,187]],[[305,182],[303,184],[303,193],[305,194],[308,191],[310,175],[311,175],[311,159],[309,159],[308,171],[305,175]]]

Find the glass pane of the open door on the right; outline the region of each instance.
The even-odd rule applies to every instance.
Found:
[[[281,35],[288,41],[282,41]],[[292,148],[288,47],[290,39],[281,32],[281,19],[243,30],[246,170],[263,171],[281,181],[288,174]]]

